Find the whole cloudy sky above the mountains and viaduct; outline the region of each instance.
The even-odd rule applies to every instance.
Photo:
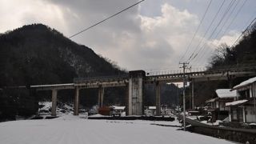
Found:
[[[135,2],[1,0],[0,33],[42,23],[70,37]],[[255,0],[146,0],[71,39],[126,70],[178,69],[191,55],[192,67],[202,67],[218,45],[233,45],[255,18],[255,7]]]

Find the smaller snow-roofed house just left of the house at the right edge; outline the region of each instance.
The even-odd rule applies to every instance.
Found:
[[[207,106],[210,108],[207,110],[212,114],[212,121],[223,120],[229,117],[230,107],[226,107],[226,102],[233,102],[237,97],[236,90],[230,91],[230,89],[218,89],[215,90],[216,98],[211,98],[206,101]]]

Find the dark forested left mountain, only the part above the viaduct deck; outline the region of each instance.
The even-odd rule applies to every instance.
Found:
[[[0,87],[73,82],[76,77],[124,74],[86,46],[42,24],[0,36]]]

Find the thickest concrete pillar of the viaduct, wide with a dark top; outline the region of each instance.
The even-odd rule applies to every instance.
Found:
[[[136,70],[129,72],[129,102],[128,114],[129,115],[142,115],[143,114],[143,88],[145,71]]]

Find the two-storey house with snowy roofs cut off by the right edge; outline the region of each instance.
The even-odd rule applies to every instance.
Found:
[[[227,102],[230,107],[230,122],[256,122],[256,77],[234,86],[237,90],[237,97],[234,102]]]

